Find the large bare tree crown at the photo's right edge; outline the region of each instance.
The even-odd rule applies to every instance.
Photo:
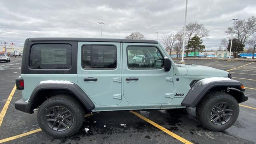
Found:
[[[256,32],[256,18],[251,16],[247,20],[237,20],[233,23],[234,38],[237,38],[241,44],[245,44],[246,40]],[[232,34],[232,27],[228,27],[225,31],[228,35]]]

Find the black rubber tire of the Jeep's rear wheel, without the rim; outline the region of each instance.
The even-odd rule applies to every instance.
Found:
[[[67,130],[55,131],[48,126],[46,122],[46,114],[48,109],[54,106],[65,107],[72,113],[73,122],[70,128],[68,128]],[[50,136],[53,136],[55,138],[63,138],[63,137],[72,136],[81,128],[84,122],[84,114],[85,114],[85,111],[83,109],[83,106],[82,104],[80,104],[78,100],[68,95],[57,95],[43,102],[43,104],[40,106],[38,110],[37,118],[38,118],[38,124],[40,128],[46,134],[49,134]]]

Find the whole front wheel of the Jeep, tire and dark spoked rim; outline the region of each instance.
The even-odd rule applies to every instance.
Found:
[[[224,92],[210,92],[196,106],[201,124],[212,131],[223,131],[232,126],[239,115],[237,100]]]

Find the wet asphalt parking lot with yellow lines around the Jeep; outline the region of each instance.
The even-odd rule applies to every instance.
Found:
[[[179,60],[174,60],[178,62]],[[22,98],[14,92],[20,76],[21,58],[0,62],[0,143],[9,144],[255,144],[256,143],[256,62],[223,60],[186,60],[186,64],[211,66],[230,72],[246,86],[248,101],[240,104],[236,123],[223,132],[206,130],[199,124],[194,108],[186,110],[143,110],[99,112],[86,115],[82,128],[69,138],[56,139],[39,129],[37,111],[26,114],[14,108]],[[13,96],[10,96],[12,95]],[[12,99],[10,100],[10,97]],[[8,99],[9,98],[9,99]],[[10,104],[6,107],[6,103]],[[6,113],[4,111],[6,110]],[[121,126],[120,124],[126,124]],[[106,126],[106,127],[104,127]],[[84,128],[89,128],[88,132]]]

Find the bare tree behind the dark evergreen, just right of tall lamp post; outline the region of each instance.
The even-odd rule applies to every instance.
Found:
[[[183,27],[184,30],[184,27]],[[198,22],[190,22],[186,25],[186,39],[187,42],[190,41],[190,39],[193,36],[199,36],[199,38],[206,38],[210,34],[210,30],[206,29],[204,27],[204,24],[198,24]],[[186,55],[188,55],[188,52],[190,50],[186,49]]]

